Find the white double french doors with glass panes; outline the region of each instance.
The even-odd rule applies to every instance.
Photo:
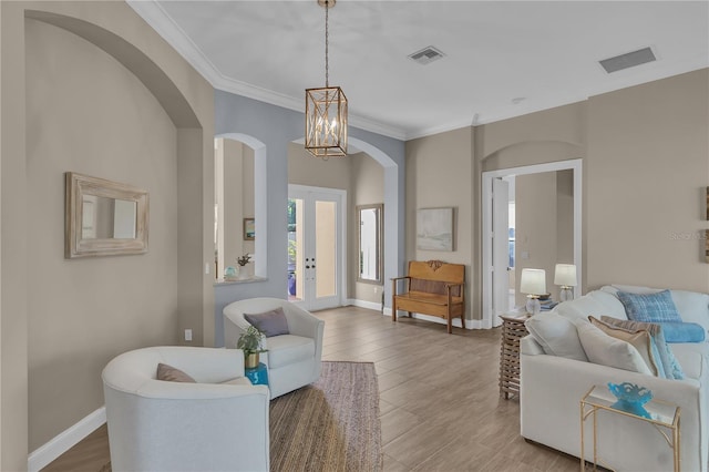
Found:
[[[308,310],[342,305],[345,191],[288,186],[288,298]]]

